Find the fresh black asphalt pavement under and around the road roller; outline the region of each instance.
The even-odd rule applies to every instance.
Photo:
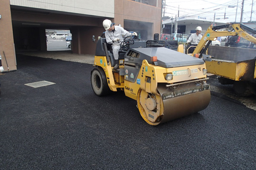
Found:
[[[17,63],[0,75],[0,170],[256,169],[256,111],[222,94],[151,126],[122,91],[94,94],[91,64],[20,54]],[[55,84],[25,85],[37,81]]]

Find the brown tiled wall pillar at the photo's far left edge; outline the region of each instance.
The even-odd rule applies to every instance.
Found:
[[[13,43],[13,34],[12,34],[12,24],[11,24],[11,14],[10,14],[10,1],[9,0],[1,0],[0,5],[0,14],[2,18],[0,19],[0,54],[2,57],[2,65],[4,71],[16,70],[16,56],[14,50]],[[6,56],[6,60],[4,54]],[[7,63],[8,67],[7,67]]]

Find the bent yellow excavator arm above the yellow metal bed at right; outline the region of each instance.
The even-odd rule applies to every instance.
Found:
[[[218,29],[228,28],[228,27],[232,27],[232,29],[229,31],[217,31]],[[198,43],[192,56],[194,56],[194,54],[201,53],[199,56],[199,58],[201,58],[201,55],[204,53],[204,52],[201,52],[203,47],[207,44],[206,48],[204,49],[204,50],[207,50],[211,41],[216,40],[217,37],[219,37],[219,36],[241,36],[241,37],[245,38],[246,40],[251,41],[252,43],[256,44],[256,38],[251,36],[250,34],[248,34],[246,31],[251,32],[252,34],[256,34],[256,30],[254,30],[250,27],[247,27],[243,24],[234,23],[234,24],[216,26],[216,27],[210,26],[207,28],[207,31],[204,34],[204,36],[202,37],[201,41]]]

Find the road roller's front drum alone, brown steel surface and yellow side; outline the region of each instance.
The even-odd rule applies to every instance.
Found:
[[[163,100],[161,92],[151,94],[142,89],[138,91],[137,104],[140,115],[149,125],[158,125],[179,117],[187,116],[204,110],[210,102],[210,90],[197,91],[174,98]]]

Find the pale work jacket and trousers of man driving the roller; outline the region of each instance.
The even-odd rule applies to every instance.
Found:
[[[115,60],[118,60],[118,51],[120,49],[120,45],[118,42],[113,42],[115,38],[119,38],[119,41],[123,41],[123,36],[131,36],[132,33],[129,33],[127,30],[125,30],[123,27],[119,26],[114,26],[114,32],[113,31],[108,31],[106,30],[105,36],[106,36],[106,41],[108,44],[112,44],[112,50],[114,54]]]

